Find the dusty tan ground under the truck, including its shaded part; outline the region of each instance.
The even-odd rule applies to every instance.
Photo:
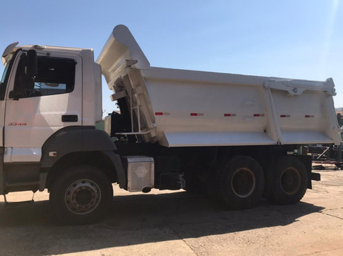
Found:
[[[232,211],[187,192],[128,193],[114,186],[108,217],[59,226],[49,195],[0,201],[0,255],[343,255],[343,171],[316,170],[296,205],[261,201]],[[8,194],[31,200],[32,192]]]

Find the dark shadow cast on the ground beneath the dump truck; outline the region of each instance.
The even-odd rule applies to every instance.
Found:
[[[2,205],[3,206],[3,205]],[[300,202],[233,211],[187,192],[115,196],[93,225],[60,226],[49,202],[0,207],[1,255],[55,255],[284,226],[323,208]]]

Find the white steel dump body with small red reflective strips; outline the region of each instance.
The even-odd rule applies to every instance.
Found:
[[[307,81],[150,67],[119,25],[97,63],[132,132],[163,146],[339,144],[332,79]],[[133,114],[134,113],[134,114]]]

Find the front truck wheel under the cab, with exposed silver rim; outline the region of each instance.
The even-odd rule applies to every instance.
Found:
[[[102,170],[74,166],[54,181],[49,201],[61,222],[86,224],[104,214],[112,198],[112,184]]]

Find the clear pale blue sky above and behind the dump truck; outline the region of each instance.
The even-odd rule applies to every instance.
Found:
[[[151,66],[325,81],[343,107],[343,0],[1,0],[8,44],[92,48],[126,25]],[[0,67],[3,73],[3,66]],[[103,79],[104,112],[112,112]]]

